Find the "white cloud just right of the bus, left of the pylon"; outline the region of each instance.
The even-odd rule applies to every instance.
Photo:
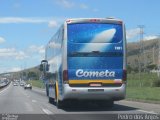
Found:
[[[128,39],[132,39],[132,38],[138,36],[139,33],[140,33],[139,28],[127,30],[127,31],[126,31],[126,38],[127,38],[127,40],[128,40]]]

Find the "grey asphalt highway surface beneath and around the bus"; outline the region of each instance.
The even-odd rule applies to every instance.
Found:
[[[35,119],[64,119],[64,120],[89,120],[106,119],[106,115],[111,114],[160,114],[160,105],[119,101],[115,102],[112,109],[101,108],[97,105],[77,105],[71,108],[57,109],[54,104],[48,103],[45,91],[33,88],[24,90],[21,86],[10,84],[5,89],[0,90],[0,119],[6,114],[23,115],[21,118],[28,119],[30,115]],[[25,116],[26,115],[26,116]],[[48,117],[50,116],[50,117]],[[9,116],[12,117],[12,116]],[[117,118],[117,116],[115,116]],[[31,119],[31,118],[30,118]],[[118,119],[118,118],[117,118]],[[3,119],[4,120],[4,119]]]

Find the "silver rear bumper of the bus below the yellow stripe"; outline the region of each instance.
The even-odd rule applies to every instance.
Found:
[[[122,100],[126,95],[126,84],[121,87],[70,87],[65,84],[62,100]]]

